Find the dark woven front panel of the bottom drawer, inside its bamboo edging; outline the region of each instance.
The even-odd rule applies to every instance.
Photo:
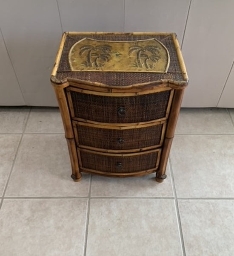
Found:
[[[80,151],[84,168],[111,173],[131,173],[153,169],[156,166],[157,154],[153,152],[131,157],[113,157]]]

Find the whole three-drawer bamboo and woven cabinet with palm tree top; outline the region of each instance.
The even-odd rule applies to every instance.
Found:
[[[174,33],[65,32],[51,84],[74,181],[82,172],[166,178],[188,85]]]

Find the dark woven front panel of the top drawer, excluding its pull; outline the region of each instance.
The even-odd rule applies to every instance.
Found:
[[[75,117],[97,122],[146,122],[166,116],[170,90],[140,96],[108,97],[71,91]],[[119,108],[125,110],[120,116]]]

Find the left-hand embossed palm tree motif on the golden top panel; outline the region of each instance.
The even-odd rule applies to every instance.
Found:
[[[103,62],[109,61],[111,59],[111,46],[107,44],[98,45],[96,47],[92,45],[85,45],[80,48],[79,55],[82,56],[84,52],[87,52],[87,61],[80,64],[85,67],[94,67],[99,68],[103,67],[105,64]],[[98,62],[101,60],[102,62]]]

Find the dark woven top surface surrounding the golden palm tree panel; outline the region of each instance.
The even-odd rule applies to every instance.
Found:
[[[110,41],[135,41],[156,38],[168,49],[170,65],[168,73],[144,73],[144,72],[71,72],[68,62],[68,53],[71,47],[83,38],[93,38]],[[103,84],[126,86],[129,84],[146,83],[160,79],[183,81],[180,64],[171,35],[68,35],[64,44],[60,65],[57,70],[57,78],[66,77],[81,79],[85,81],[100,82]]]

